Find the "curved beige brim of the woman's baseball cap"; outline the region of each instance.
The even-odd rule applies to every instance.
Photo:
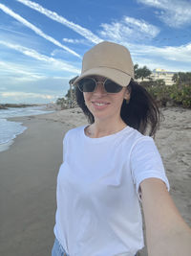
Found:
[[[76,84],[78,81],[88,76],[105,77],[117,82],[117,84],[123,87],[127,86],[132,79],[130,75],[121,72],[120,70],[107,67],[96,67],[83,72],[83,74],[81,74],[73,83]]]

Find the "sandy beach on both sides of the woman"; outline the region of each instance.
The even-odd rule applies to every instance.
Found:
[[[170,194],[191,226],[191,110],[169,107],[162,112],[165,120],[156,144]],[[54,239],[62,139],[68,129],[87,124],[87,120],[79,108],[13,120],[28,129],[8,151],[0,152],[0,255],[48,256]],[[146,248],[139,255],[146,256]]]

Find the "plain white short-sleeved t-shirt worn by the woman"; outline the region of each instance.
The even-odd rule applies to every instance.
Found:
[[[133,256],[144,246],[140,182],[158,177],[169,190],[159,151],[134,128],[101,138],[84,128],[64,138],[55,237],[70,256]]]

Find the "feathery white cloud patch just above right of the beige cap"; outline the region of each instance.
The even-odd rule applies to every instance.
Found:
[[[120,41],[138,41],[141,38],[152,39],[159,35],[159,28],[149,24],[142,19],[136,19],[124,16],[119,21],[110,24],[104,23],[100,27],[103,28],[99,34],[106,39]]]

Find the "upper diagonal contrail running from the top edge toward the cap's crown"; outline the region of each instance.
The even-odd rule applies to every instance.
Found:
[[[84,36],[91,42],[98,43],[98,42],[102,41],[101,38],[99,38],[98,36],[93,34],[88,29],[83,28],[83,27],[79,26],[78,24],[74,24],[74,22],[69,21],[66,18],[64,18],[63,16],[58,15],[56,12],[52,12],[48,9],[43,8],[39,4],[36,4],[29,0],[16,0],[16,1],[32,8],[33,10],[35,10],[37,12],[40,12],[40,13],[48,16],[49,18],[61,23],[62,25],[67,26],[68,28],[74,30],[74,32],[76,32],[77,34]]]

